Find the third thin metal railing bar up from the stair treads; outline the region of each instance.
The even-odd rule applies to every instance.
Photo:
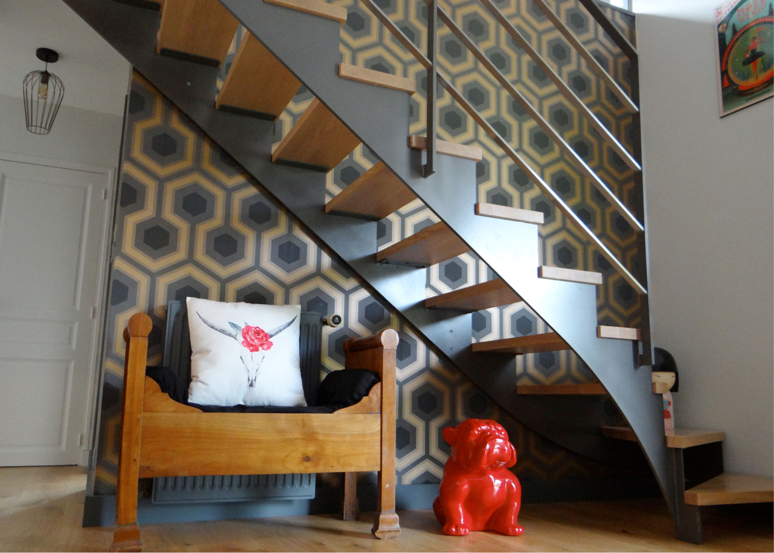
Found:
[[[599,120],[596,115],[594,115],[594,113],[588,108],[584,101],[581,100],[577,94],[575,94],[573,90],[567,86],[567,83],[564,82],[562,77],[560,77],[559,74],[554,71],[548,63],[546,63],[546,60],[543,60],[543,56],[541,56],[536,51],[536,49],[532,47],[532,44],[530,44],[529,41],[525,39],[524,36],[522,36],[522,33],[520,33],[519,30],[515,28],[512,22],[510,22],[509,19],[505,17],[500,9],[498,9],[498,7],[491,2],[491,0],[478,0],[478,2],[481,2],[481,4],[483,4],[484,7],[489,10],[491,15],[497,19],[498,22],[500,22],[500,25],[503,26],[505,32],[508,32],[511,38],[514,39],[515,42],[519,44],[519,46],[521,46],[522,49],[527,53],[527,55],[533,59],[537,66],[543,70],[543,73],[548,75],[550,80],[553,81],[553,84],[557,85],[557,88],[560,90],[560,92],[564,94],[564,97],[567,98],[567,100],[570,101],[570,103],[573,104],[581,114],[585,115],[586,118],[591,121],[591,126],[597,129],[599,134],[601,134],[602,137],[608,141],[615,152],[620,155],[626,165],[629,166],[629,169],[642,171],[642,166],[640,166],[637,159],[635,159],[635,157],[628,152],[628,150],[624,147],[624,145],[621,144],[621,142],[618,142],[618,138],[615,138],[611,131],[604,125],[604,123],[602,123],[602,121]]]

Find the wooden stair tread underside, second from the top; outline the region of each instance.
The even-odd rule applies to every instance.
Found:
[[[272,121],[279,117],[301,83],[265,49],[255,36],[247,35],[228,70],[215,108],[244,111]]]

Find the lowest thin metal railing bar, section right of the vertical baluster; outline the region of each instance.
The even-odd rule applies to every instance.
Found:
[[[478,125],[481,125],[481,128],[483,128],[491,137],[491,139],[494,140],[500,146],[500,148],[502,148],[503,152],[505,152],[509,158],[511,158],[513,162],[515,162],[515,164],[522,169],[522,171],[526,172],[529,178],[532,179],[533,183],[538,186],[540,191],[548,196],[554,204],[556,204],[559,210],[564,214],[564,217],[567,217],[567,219],[572,221],[572,223],[578,229],[580,229],[581,234],[584,234],[584,236],[587,237],[587,239],[598,248],[604,258],[607,259],[610,264],[613,265],[613,267],[615,267],[615,269],[623,276],[623,278],[625,278],[626,282],[632,285],[632,288],[635,288],[635,290],[640,294],[647,294],[647,289],[639,283],[639,281],[634,277],[634,275],[632,275],[631,272],[628,271],[627,268],[624,267],[621,261],[618,261],[618,258],[616,258],[615,255],[608,249],[608,247],[605,246],[596,236],[596,234],[594,234],[591,229],[589,229],[589,227],[587,227],[586,224],[580,220],[574,211],[570,209],[567,203],[564,203],[564,200],[562,200],[562,198],[556,192],[554,192],[550,186],[548,186],[546,181],[543,180],[543,177],[539,176],[539,174],[535,172],[531,166],[529,166],[529,163],[527,163],[522,158],[522,156],[515,152],[511,145],[505,141],[505,138],[502,138],[502,136],[500,136],[499,133],[495,131],[495,128],[489,125],[489,122],[480,113],[478,113],[476,108],[468,103],[468,101],[462,96],[462,94],[460,94],[457,88],[455,88],[454,85],[450,83],[450,80],[448,80],[444,73],[442,73],[440,70],[438,71],[438,82],[442,87],[448,90],[451,97],[453,97],[454,100],[457,101],[457,103],[460,104],[465,111],[467,111],[467,114],[469,114],[471,118],[473,118],[474,121],[478,123]]]

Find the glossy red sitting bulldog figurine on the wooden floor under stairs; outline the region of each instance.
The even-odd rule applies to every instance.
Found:
[[[444,428],[444,439],[451,445],[451,455],[433,502],[444,534],[491,530],[521,535],[524,528],[516,524],[516,517],[522,486],[508,469],[516,463],[516,450],[505,428],[495,421],[468,418],[455,428]]]

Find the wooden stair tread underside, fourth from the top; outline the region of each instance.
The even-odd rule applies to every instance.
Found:
[[[379,220],[413,200],[409,187],[378,162],[326,203],[325,212]]]

